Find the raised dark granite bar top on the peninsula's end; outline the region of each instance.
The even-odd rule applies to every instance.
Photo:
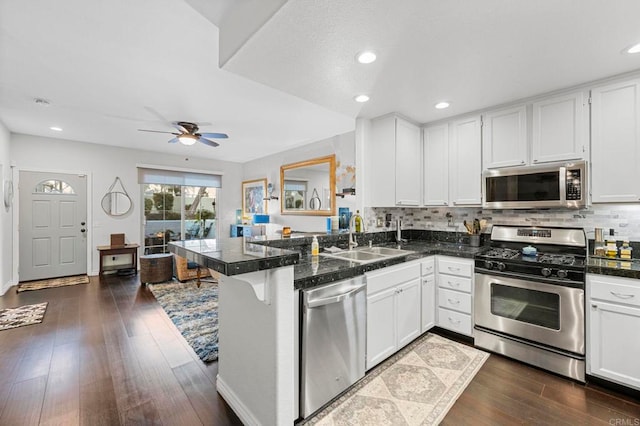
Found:
[[[169,243],[169,250],[227,276],[295,265],[300,261],[296,251],[253,244],[245,238],[174,241]]]

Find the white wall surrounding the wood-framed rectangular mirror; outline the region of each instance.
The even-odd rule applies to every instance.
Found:
[[[296,216],[280,214],[280,166],[312,158],[324,157],[336,154],[336,187],[355,187],[355,132],[337,135],[329,139],[314,142],[285,152],[280,152],[267,157],[244,163],[243,180],[267,178],[267,182],[273,183],[276,188],[274,195],[280,199],[268,201],[267,212],[271,223],[290,226],[293,231],[324,233],[326,230],[327,216]],[[240,184],[238,192],[240,192]],[[311,189],[312,191],[312,189]],[[320,194],[322,197],[322,194]],[[355,210],[356,197],[346,196],[336,199],[336,216],[338,207],[348,207]]]

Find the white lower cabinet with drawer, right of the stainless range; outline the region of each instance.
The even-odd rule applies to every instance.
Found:
[[[640,389],[640,280],[587,275],[587,373]]]

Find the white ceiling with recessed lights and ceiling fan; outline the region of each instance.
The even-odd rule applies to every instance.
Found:
[[[638,16],[637,0],[0,0],[0,120],[245,162],[356,117],[426,123],[640,69],[620,53],[640,42]],[[378,61],[357,64],[366,48]],[[435,110],[443,99],[452,107]],[[168,145],[137,131],[171,130],[153,111],[230,138]]]

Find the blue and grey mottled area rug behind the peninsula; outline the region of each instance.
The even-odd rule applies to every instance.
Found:
[[[147,286],[204,362],[218,359],[218,283],[172,281]]]

